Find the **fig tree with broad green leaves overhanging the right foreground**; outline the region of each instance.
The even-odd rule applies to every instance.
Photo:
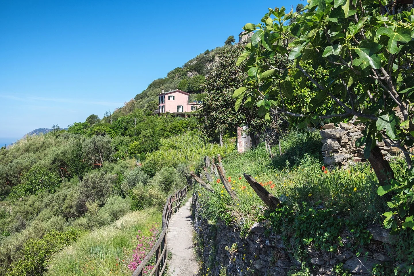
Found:
[[[267,120],[271,113],[284,113],[300,118],[301,126],[356,116],[366,125],[359,144],[383,185],[378,193],[393,190],[402,199],[390,202],[396,211],[384,214],[386,225],[412,228],[414,211],[407,203],[414,196],[412,178],[394,180],[376,146],[383,141],[400,149],[412,172],[414,11],[396,13],[395,5],[387,0],[308,0],[302,14],[269,9],[260,24],[243,28],[255,31],[237,61],[248,60],[249,76],[233,97],[236,110],[255,105]],[[295,20],[286,24],[290,19]],[[269,59],[278,54],[288,65]],[[306,97],[301,97],[303,89]]]

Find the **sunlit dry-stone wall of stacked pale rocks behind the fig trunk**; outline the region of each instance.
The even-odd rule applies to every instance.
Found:
[[[363,137],[363,130],[365,130],[363,124],[354,125],[340,122],[338,126],[335,126],[334,123],[324,125],[320,130],[324,163],[328,166],[340,165],[346,168],[349,163],[367,161],[363,153],[364,146],[355,146],[356,140]],[[377,146],[386,159],[399,154],[397,148],[385,146],[384,142],[377,142]]]

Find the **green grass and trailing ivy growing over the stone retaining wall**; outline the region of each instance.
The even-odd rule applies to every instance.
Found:
[[[347,170],[325,170],[318,132],[292,131],[284,134],[280,142],[282,156],[277,146],[273,160],[263,144],[244,154],[226,154],[226,176],[240,201],[234,202],[221,181],[215,179],[210,183],[214,193],[202,187],[197,190],[201,215],[210,223],[223,221],[245,235],[255,222],[267,221],[267,234],[280,235],[287,250],[302,262],[302,274],[292,268],[292,275],[317,272],[310,262],[311,252],[338,254],[351,250],[364,257],[366,248],[371,246],[367,226],[380,224],[381,214],[390,209],[377,193],[378,179],[372,168],[359,165]],[[395,158],[391,164],[404,177],[401,161]],[[243,173],[254,176],[277,196],[282,201],[279,208],[264,208]],[[413,234],[400,231],[397,235],[396,247],[388,251],[397,265],[378,266],[375,275],[409,275],[414,268],[414,252],[409,247]],[[338,266],[337,275],[349,273]]]

